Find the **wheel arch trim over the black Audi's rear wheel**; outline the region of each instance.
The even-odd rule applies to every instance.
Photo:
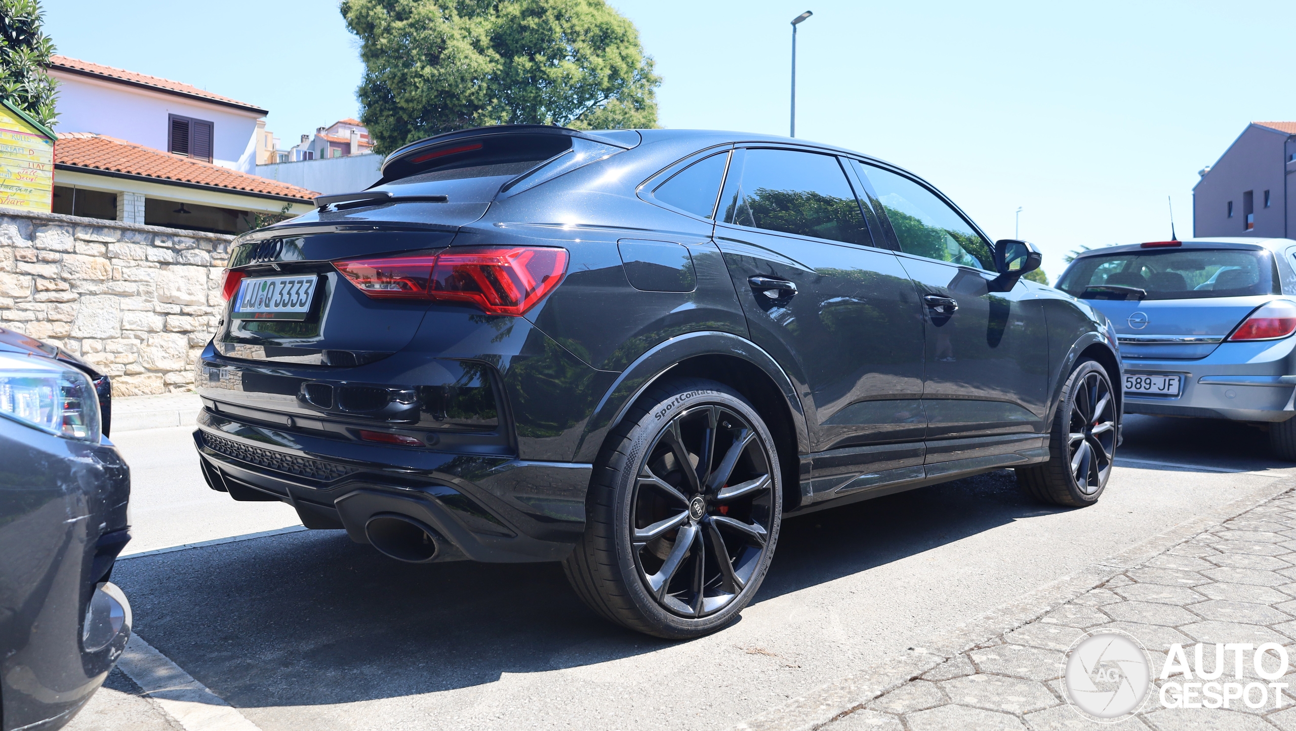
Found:
[[[801,455],[810,454],[805,411],[781,367],[753,342],[724,332],[670,338],[640,355],[608,389],[586,423],[575,461],[592,463],[608,433],[643,393],[664,377],[710,378],[743,394],[774,435],[783,477],[784,511],[801,494]]]

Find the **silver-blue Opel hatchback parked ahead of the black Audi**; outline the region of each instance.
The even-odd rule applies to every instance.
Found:
[[[1293,257],[1291,238],[1108,246],[1058,286],[1116,327],[1128,413],[1247,421],[1296,461]]]

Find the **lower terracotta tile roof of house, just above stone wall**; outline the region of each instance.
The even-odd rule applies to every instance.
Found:
[[[54,143],[54,165],[157,178],[159,181],[210,185],[303,202],[319,196],[314,191],[288,183],[248,175],[93,132],[60,132]]]

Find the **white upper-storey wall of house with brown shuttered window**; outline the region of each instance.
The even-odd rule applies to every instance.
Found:
[[[255,175],[258,115],[254,111],[58,70],[51,75],[60,82],[54,126],[58,132],[96,132],[165,152],[168,114],[205,119],[213,124],[213,162]]]

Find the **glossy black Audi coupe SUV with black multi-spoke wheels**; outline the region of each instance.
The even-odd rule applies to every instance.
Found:
[[[714,631],[783,516],[1011,467],[1098,500],[1107,319],[923,180],[734,132],[504,126],[242,235],[198,363],[203,473],[404,561],[562,561]]]

